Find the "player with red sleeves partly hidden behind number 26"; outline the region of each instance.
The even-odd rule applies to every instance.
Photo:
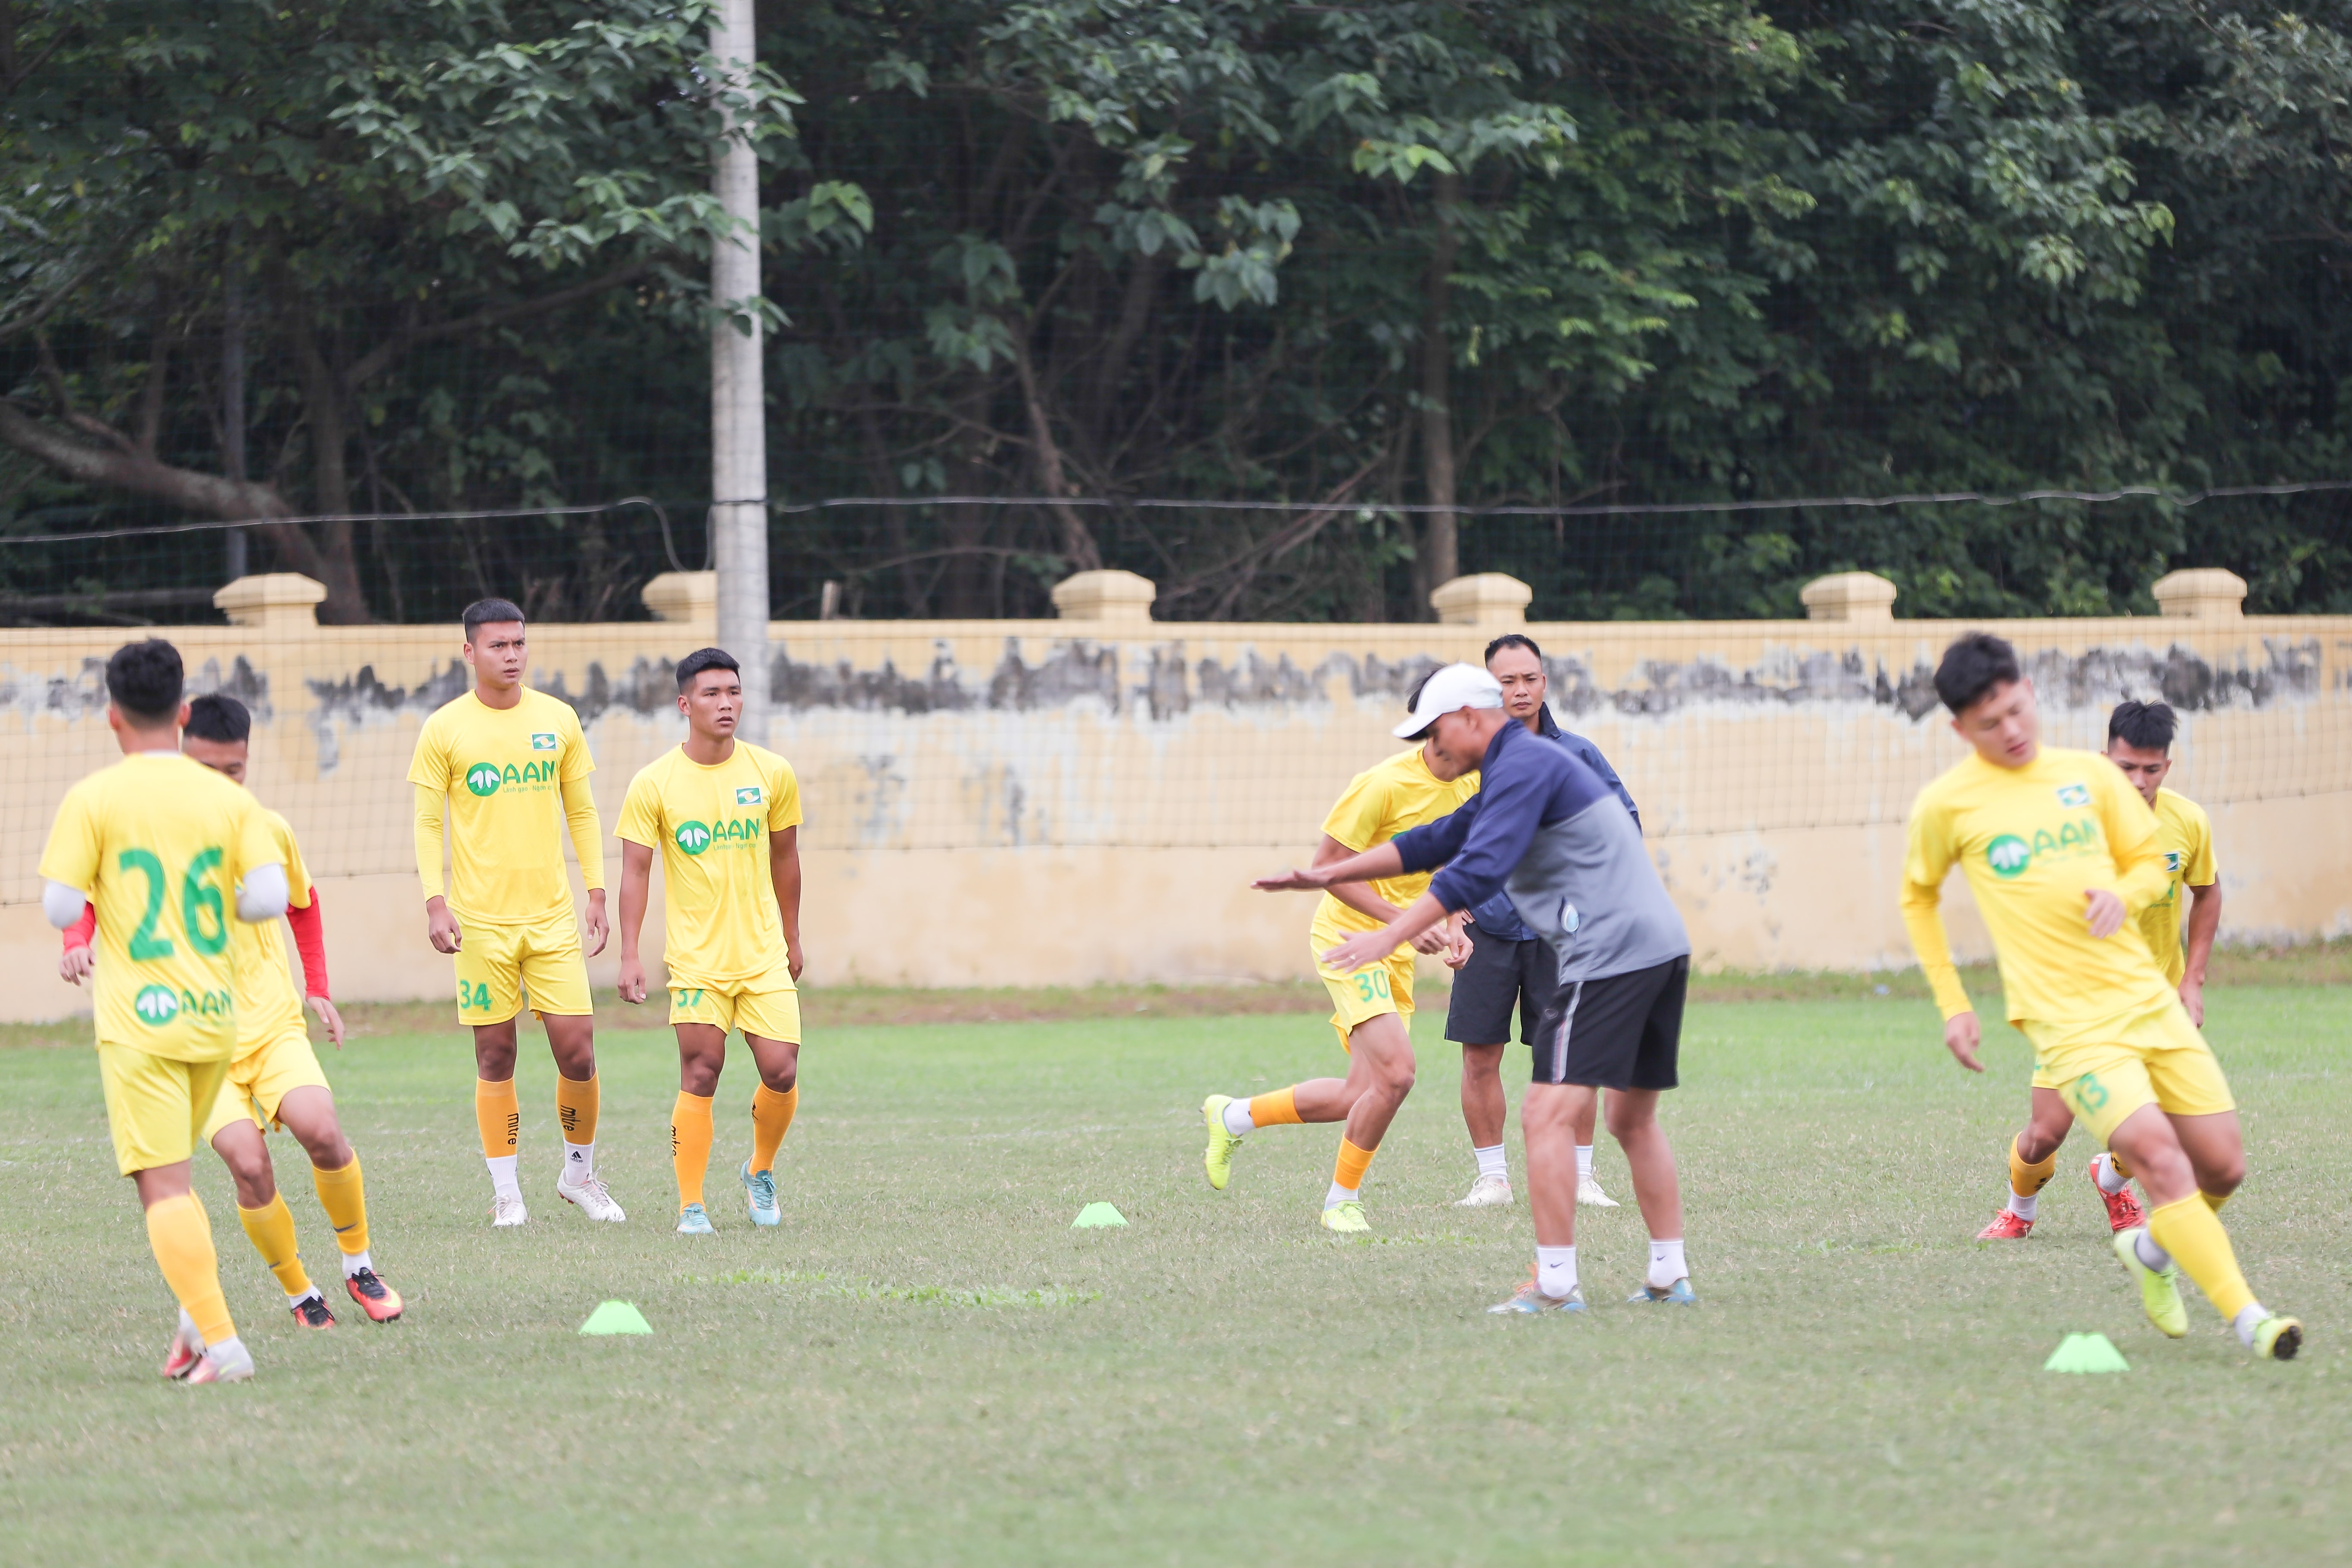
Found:
[[[200,696],[188,703],[188,726],[179,748],[202,762],[214,773],[245,783],[245,759],[254,719],[233,696]],[[327,1025],[327,1039],[341,1048],[343,1018],[327,997],[327,929],[320,924],[318,889],[294,844],[294,830],[275,811],[261,811],[268,832],[287,867],[287,926],[294,929],[294,950],[310,1006]],[[96,914],[85,910],[82,919],[66,931],[66,957],[59,973],[80,985],[89,973],[89,933]],[[294,1244],[294,1215],[285,1194],[278,1192],[278,1173],[270,1168],[270,1150],[263,1135],[270,1126],[294,1133],[294,1140],[310,1154],[310,1185],[318,1187],[318,1206],[334,1225],[336,1248],[343,1253],[343,1291],[376,1324],[400,1316],[400,1293],[376,1276],[374,1258],[367,1253],[367,1190],[360,1178],[360,1157],[343,1138],[334,1114],[334,1091],[318,1067],[310,1034],[303,1027],[301,994],[287,973],[285,943],[278,940],[278,922],[238,924],[230,940],[238,971],[238,1056],[228,1063],[228,1079],[212,1103],[205,1121],[205,1143],[228,1166],[238,1187],[238,1220],[245,1237],[261,1253],[261,1262],[278,1276],[287,1293],[287,1307],[303,1328],[334,1328],[334,1312],[327,1298],[310,1284]]]

